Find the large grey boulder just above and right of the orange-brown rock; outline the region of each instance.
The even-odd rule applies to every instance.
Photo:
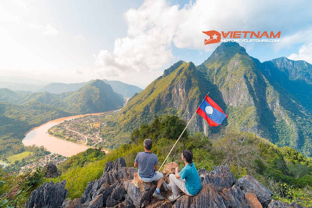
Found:
[[[262,206],[266,207],[273,193],[254,177],[246,175],[238,179],[239,186],[246,192],[256,194]]]

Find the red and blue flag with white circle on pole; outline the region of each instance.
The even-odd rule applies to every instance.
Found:
[[[220,125],[225,117],[228,117],[208,95],[202,101],[202,104],[200,104],[196,112],[202,116],[210,126]]]

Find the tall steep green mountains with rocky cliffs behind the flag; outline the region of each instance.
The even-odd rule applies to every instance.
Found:
[[[311,71],[305,61],[281,57],[261,63],[238,43],[222,43],[199,66],[179,61],[166,69],[129,100],[116,126],[133,130],[163,114],[189,121],[210,92],[229,118],[212,129],[195,116],[190,131],[204,131],[210,137],[230,130],[253,132],[311,156]]]

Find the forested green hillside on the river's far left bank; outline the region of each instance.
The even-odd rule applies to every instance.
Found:
[[[123,103],[122,95],[101,80],[62,94],[0,89],[0,158],[22,152],[22,139],[32,127],[56,118],[115,110]]]

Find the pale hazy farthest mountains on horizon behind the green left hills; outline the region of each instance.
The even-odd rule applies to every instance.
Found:
[[[93,82],[94,80],[90,80],[89,82],[82,82],[82,83],[45,83],[45,85],[36,85],[36,84],[29,84],[29,83],[36,83],[37,80],[32,79],[25,79],[25,83],[22,83],[21,77],[10,77],[10,76],[0,76],[0,88],[8,88],[13,91],[31,91],[31,92],[50,92],[59,94],[62,92],[72,92],[76,91],[79,88]],[[7,80],[7,81],[6,81]],[[10,81],[10,82],[9,82]],[[14,83],[16,81],[17,83]],[[123,97],[132,97],[135,93],[141,92],[143,89],[126,84],[120,81],[109,81],[103,79],[105,83],[109,84],[113,90],[117,93],[122,94]],[[39,83],[39,81],[37,81]]]

